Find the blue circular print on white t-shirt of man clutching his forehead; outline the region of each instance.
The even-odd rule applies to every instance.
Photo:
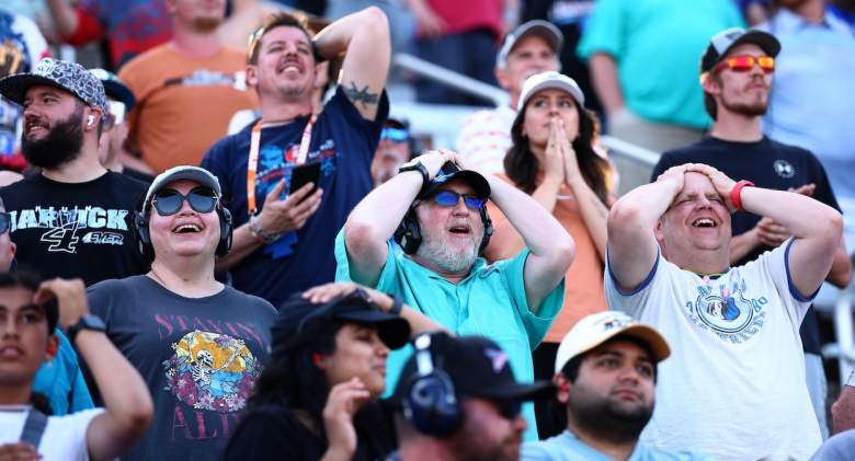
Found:
[[[698,296],[686,301],[685,313],[697,326],[720,339],[740,344],[751,339],[765,322],[765,297],[748,298],[745,280],[734,274],[729,279],[708,280],[697,286]]]

